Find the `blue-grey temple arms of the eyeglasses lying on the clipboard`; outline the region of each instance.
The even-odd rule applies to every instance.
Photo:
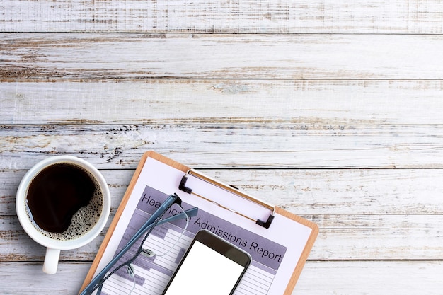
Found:
[[[158,219],[161,214],[163,214],[163,212],[168,209],[169,207],[171,207],[171,205],[176,202],[176,199],[178,199],[178,195],[174,194],[174,195],[170,195],[168,197],[168,199],[166,199],[165,202],[163,202],[163,204],[161,204],[161,207],[159,207],[159,209],[156,210],[156,212],[154,212],[154,214],[152,214],[152,216],[143,224],[143,226],[137,231],[137,233],[134,234],[134,236],[132,236],[132,238],[130,239],[130,241],[127,242],[127,244],[125,245],[124,248],[122,248],[122,250],[120,250],[120,252],[115,256],[115,258],[113,258],[113,260],[111,260],[108,265],[106,265],[103,270],[100,271],[100,273],[98,273],[96,275],[96,277],[94,277],[91,282],[88,284],[88,286],[85,287],[85,289],[83,291],[81,291],[81,293],[79,295],[88,295],[91,294],[96,287],[98,287],[98,284],[100,282],[101,279],[103,279],[103,277],[105,277],[106,273],[115,265],[115,263],[122,258],[122,256],[127,252],[127,250],[129,250],[132,245],[134,245],[134,243],[139,239],[140,236],[143,235],[143,233],[145,233],[148,229],[151,228],[151,226],[154,225],[154,221],[156,219]],[[196,216],[198,212],[198,208],[192,208],[192,209],[188,209],[185,210],[185,212],[182,212],[180,214],[176,214],[173,216],[170,216],[166,219],[162,219],[160,220],[157,225],[160,224],[164,224],[166,222],[171,222],[171,221],[176,221],[178,219],[183,219],[186,216],[188,217],[193,217]]]

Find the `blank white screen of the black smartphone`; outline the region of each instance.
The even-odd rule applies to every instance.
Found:
[[[195,241],[166,295],[229,295],[243,267]]]

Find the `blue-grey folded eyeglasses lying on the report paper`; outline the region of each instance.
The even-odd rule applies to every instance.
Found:
[[[176,204],[178,207],[180,207],[181,212],[177,213],[175,215],[172,215],[170,217],[167,217],[165,219],[161,219],[163,217],[163,215],[166,214],[166,212],[168,212],[169,209],[171,209],[171,207],[174,204]],[[188,227],[189,218],[192,216],[196,216],[197,212],[198,212],[197,207],[192,208],[192,209],[188,209],[188,210],[184,210],[183,207],[181,206],[180,197],[178,197],[178,195],[176,195],[176,194],[170,195],[165,200],[165,202],[163,202],[163,204],[161,204],[159,209],[157,209],[156,212],[154,212],[154,214],[152,214],[152,216],[149,217],[149,219],[142,225],[142,227],[137,231],[137,233],[135,233],[134,236],[132,236],[132,238],[130,238],[130,241],[127,242],[127,244],[122,248],[122,250],[120,250],[120,252],[117,253],[117,255],[115,255],[113,260],[111,260],[108,263],[108,265],[106,265],[103,268],[103,270],[101,270],[100,273],[97,274],[96,277],[94,277],[91,280],[91,282],[88,284],[88,286],[86,286],[85,289],[83,291],[81,291],[81,293],[79,295],[89,295],[89,294],[92,294],[93,291],[96,291],[96,290],[97,290],[96,294],[100,294],[105,281],[108,280],[113,274],[115,274],[117,272],[124,272],[125,274],[129,275],[132,278],[132,280],[134,282],[132,290],[134,290],[134,287],[136,284],[135,283],[135,270],[134,270],[134,266],[133,266],[134,260],[136,260],[137,257],[139,257],[139,255],[142,255],[145,257],[153,257],[153,256],[163,256],[163,255],[166,255],[167,253],[169,253],[176,246],[178,241],[180,241],[183,234],[185,233],[185,231]],[[162,254],[156,254],[155,253],[156,250],[153,250],[152,248],[144,248],[144,243],[145,243],[146,239],[149,237],[149,234],[156,226],[159,226],[159,225],[164,224],[166,222],[176,221],[178,219],[186,219],[186,226],[185,226],[185,229],[183,229],[183,232],[181,233],[181,235],[176,239],[175,243],[173,243],[173,245],[170,248],[168,248],[168,250],[163,251],[164,253],[162,253]],[[121,259],[124,257],[125,254],[130,253],[129,250],[130,250],[130,248],[132,248],[132,245],[137,243],[137,241],[139,241],[139,238],[141,238],[142,236],[144,236],[144,238],[142,239],[137,251],[132,256],[130,256],[130,258],[126,258],[126,260]],[[132,290],[130,291],[130,293],[132,293]]]

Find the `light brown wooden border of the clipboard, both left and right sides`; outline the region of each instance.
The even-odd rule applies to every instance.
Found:
[[[172,166],[178,170],[181,170],[184,173],[186,173],[188,170],[190,170],[190,168],[188,166],[185,166],[181,163],[173,161],[170,158],[167,158],[166,156],[162,156],[161,154],[157,154],[155,151],[146,151],[143,154],[143,156],[139,162],[139,165],[137,166],[137,169],[134,172],[134,175],[132,175],[132,179],[130,181],[130,184],[128,185],[125,195],[122,198],[122,202],[120,202],[117,212],[115,212],[114,219],[109,226],[108,232],[106,233],[105,238],[103,239],[103,242],[100,245],[100,248],[98,249],[96,258],[94,258],[91,268],[89,269],[88,274],[86,274],[86,278],[84,279],[84,282],[81,285],[80,292],[93,279],[93,275],[97,270],[98,263],[100,262],[100,260],[103,256],[103,253],[105,253],[105,249],[108,246],[111,236],[113,236],[115,227],[117,226],[117,223],[120,220],[120,217],[122,216],[122,212],[126,207],[127,201],[130,198],[130,195],[132,193],[132,190],[134,189],[135,183],[137,183],[137,180],[139,179],[139,175],[142,172],[142,168],[143,168],[144,163],[146,162],[147,158],[154,158],[155,160],[161,161],[162,163],[166,163],[167,165]],[[312,229],[311,235],[309,236],[309,239],[308,239],[308,242],[304,246],[304,250],[301,253],[299,262],[297,263],[297,265],[294,269],[294,272],[292,273],[291,279],[289,279],[289,283],[287,284],[287,287],[284,291],[284,295],[291,295],[292,291],[294,290],[295,284],[297,284],[297,280],[300,277],[301,270],[303,269],[304,265],[306,264],[306,260],[308,259],[309,253],[311,253],[313,243],[316,241],[316,238],[318,236],[318,226],[316,224],[314,224],[313,222],[306,220],[304,218],[301,218],[300,216],[297,216],[295,214],[292,214],[291,212],[288,212],[280,207],[275,207],[275,213],[285,216],[285,217],[292,219],[294,221],[297,221],[299,224],[303,224],[304,226],[308,226],[309,228]]]

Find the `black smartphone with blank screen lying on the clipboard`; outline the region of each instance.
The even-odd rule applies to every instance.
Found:
[[[210,231],[201,230],[162,295],[230,295],[251,263],[251,256]]]

